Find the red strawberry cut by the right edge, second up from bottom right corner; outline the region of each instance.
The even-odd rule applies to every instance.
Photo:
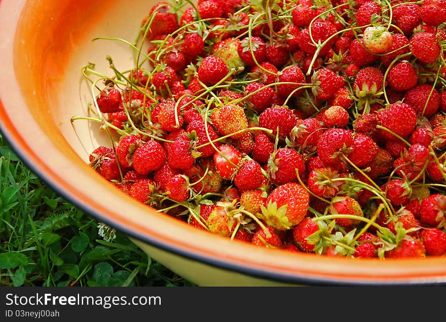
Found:
[[[446,224],[446,196],[432,194],[421,202],[421,220],[432,227]]]

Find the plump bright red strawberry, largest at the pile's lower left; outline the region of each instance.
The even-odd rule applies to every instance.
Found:
[[[142,175],[160,169],[165,162],[166,152],[163,146],[154,140],[147,141],[133,153],[133,168]]]

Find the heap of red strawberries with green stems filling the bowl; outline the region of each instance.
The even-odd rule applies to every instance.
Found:
[[[118,137],[97,172],[262,247],[446,254],[446,0],[188,3],[152,8],[132,69],[84,68]]]

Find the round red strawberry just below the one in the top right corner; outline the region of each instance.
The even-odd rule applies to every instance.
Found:
[[[435,34],[429,32],[416,33],[410,41],[409,48],[412,54],[425,64],[436,61],[441,52]]]

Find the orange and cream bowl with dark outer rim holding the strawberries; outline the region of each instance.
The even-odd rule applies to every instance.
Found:
[[[79,208],[129,236],[148,255],[198,285],[383,285],[446,283],[446,257],[328,258],[233,241],[144,206],[95,173],[88,155],[108,138],[85,115],[91,88],[81,68],[132,62],[134,39],[155,4],[144,1],[0,2],[0,129],[24,162]]]

